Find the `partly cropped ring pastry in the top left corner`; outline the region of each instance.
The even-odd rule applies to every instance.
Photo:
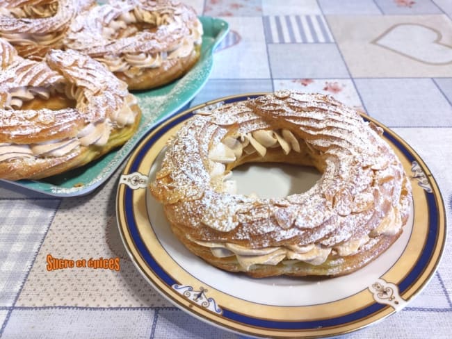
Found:
[[[42,60],[50,49],[63,47],[72,20],[95,0],[0,0],[0,38],[24,58]]]

